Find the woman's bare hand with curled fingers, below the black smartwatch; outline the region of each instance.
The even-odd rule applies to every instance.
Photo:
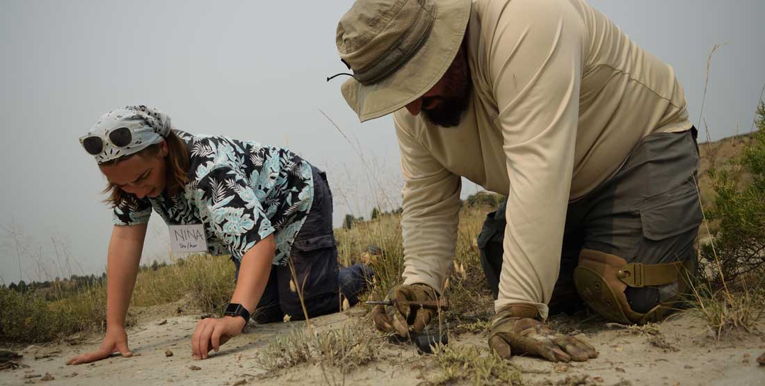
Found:
[[[194,335],[191,336],[191,355],[194,359],[205,359],[210,350],[216,352],[220,345],[233,336],[239,335],[246,324],[240,316],[223,316],[222,318],[206,318],[197,323]]]

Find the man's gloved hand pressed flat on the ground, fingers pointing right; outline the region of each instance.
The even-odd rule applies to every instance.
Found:
[[[551,362],[584,362],[597,358],[587,342],[553,331],[539,320],[526,316],[536,313],[523,305],[507,307],[494,316],[489,347],[502,358],[510,355],[536,355]]]

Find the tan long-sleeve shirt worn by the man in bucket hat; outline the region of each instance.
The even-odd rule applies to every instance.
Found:
[[[456,128],[405,109],[404,283],[444,284],[457,239],[460,176],[508,196],[495,308],[535,305],[558,277],[568,203],[613,176],[646,135],[691,128],[672,67],[582,0],[474,0],[474,93]]]

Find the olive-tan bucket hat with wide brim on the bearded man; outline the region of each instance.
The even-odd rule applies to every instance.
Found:
[[[471,0],[358,0],[337,24],[337,50],[353,77],[340,87],[361,122],[428,92],[451,65]]]

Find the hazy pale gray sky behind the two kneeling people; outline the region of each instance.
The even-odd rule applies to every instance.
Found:
[[[392,121],[360,124],[340,96],[342,78],[326,82],[346,70],[334,37],[352,4],[0,0],[0,283],[106,268],[106,180],[77,138],[123,105],[154,106],[190,133],[288,146],[327,171],[336,226],[349,212],[399,206]],[[674,67],[702,133],[750,131],[765,85],[765,2],[590,4]],[[725,45],[702,112],[715,44]],[[466,183],[463,196],[478,189]],[[142,263],[154,260],[168,260],[159,216]]]

